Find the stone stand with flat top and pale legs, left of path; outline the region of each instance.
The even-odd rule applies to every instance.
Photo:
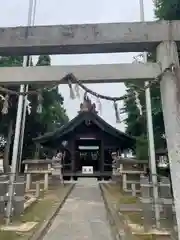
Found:
[[[52,160],[24,160],[26,174],[26,191],[30,190],[33,175],[43,175],[44,190],[48,190],[49,175],[52,174]]]

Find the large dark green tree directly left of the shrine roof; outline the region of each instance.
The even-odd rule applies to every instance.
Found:
[[[36,65],[51,65],[51,59],[48,55],[39,56]],[[33,89],[33,86],[30,86],[30,88]],[[61,126],[69,120],[66,110],[63,107],[64,99],[59,93],[58,87],[54,87],[51,90],[46,87],[42,89],[42,98],[42,113],[39,114],[37,113],[37,96],[30,95],[28,97],[32,105],[32,113],[27,115],[23,158],[33,157],[35,152],[35,145],[32,141],[33,138],[46,132],[53,131],[57,126]]]

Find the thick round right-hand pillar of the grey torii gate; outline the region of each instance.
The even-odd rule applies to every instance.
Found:
[[[157,47],[157,61],[162,71],[175,64],[176,74],[166,71],[161,79],[160,90],[164,115],[165,133],[170,162],[172,188],[175,199],[178,235],[180,239],[180,70],[176,43],[162,42]]]

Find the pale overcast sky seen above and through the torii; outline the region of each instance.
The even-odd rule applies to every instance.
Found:
[[[0,0],[2,6],[0,26],[26,25],[28,2],[29,0]],[[132,22],[139,21],[140,15],[139,0],[37,0],[37,2],[36,25]],[[152,0],[144,0],[147,21],[153,20],[152,2]],[[132,62],[132,57],[136,55],[136,53],[56,55],[52,57],[52,64],[127,63]],[[125,93],[124,84],[96,84],[88,87],[104,95],[121,96]],[[80,100],[70,100],[69,90],[65,85],[60,86],[60,92],[64,96],[64,105],[69,117],[75,117]],[[123,106],[123,103],[120,103],[120,106]],[[124,124],[116,124],[111,102],[102,101],[101,116],[116,128],[124,130]]]

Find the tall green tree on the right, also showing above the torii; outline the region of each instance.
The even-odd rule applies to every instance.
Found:
[[[155,16],[158,20],[180,20],[180,0],[154,0],[155,6]],[[154,53],[148,54],[149,61],[155,61],[156,56]],[[136,87],[129,85],[127,86],[127,94],[131,92],[132,94],[136,91]],[[145,110],[145,97],[143,93],[140,93],[140,100],[143,109]],[[156,84],[151,87],[151,103],[152,103],[152,115],[153,115],[153,127],[154,127],[154,137],[155,137],[155,147],[164,148],[166,147],[166,142],[164,139],[164,121],[163,113],[161,107],[161,97],[160,97],[160,85]],[[148,149],[145,150],[145,142],[147,140],[147,126],[146,126],[146,112],[143,111],[143,115],[140,116],[135,100],[125,101],[125,111],[127,112],[126,119],[126,132],[137,137],[137,147],[136,153],[140,156],[144,152],[148,153]],[[138,129],[139,128],[139,129]],[[142,144],[143,142],[143,144]],[[143,150],[142,150],[142,147]],[[147,145],[148,146],[148,145]]]

